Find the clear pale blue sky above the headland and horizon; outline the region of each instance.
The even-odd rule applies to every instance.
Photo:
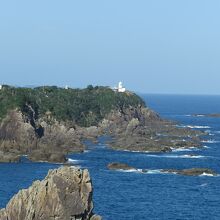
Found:
[[[0,83],[220,94],[220,1],[7,0]]]

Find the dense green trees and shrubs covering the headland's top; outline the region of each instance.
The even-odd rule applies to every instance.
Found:
[[[73,121],[87,127],[97,125],[111,110],[138,105],[145,104],[133,93],[118,93],[108,87],[92,85],[86,89],[3,86],[0,90],[0,120],[10,110],[19,109],[23,114],[29,115],[32,109],[35,119],[50,114],[58,121]]]

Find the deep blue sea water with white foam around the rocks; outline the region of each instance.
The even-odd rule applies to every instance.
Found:
[[[166,154],[113,151],[100,138],[88,143],[86,153],[69,155],[73,164],[88,168],[94,186],[95,213],[105,220],[142,219],[220,219],[220,177],[160,174],[159,169],[204,167],[220,174],[220,118],[193,117],[192,114],[219,113],[220,96],[143,95],[148,106],[162,117],[182,126],[206,130],[206,148]],[[186,155],[196,154],[189,158]],[[151,173],[110,171],[110,162],[124,162]],[[43,179],[48,169],[58,164],[0,164],[0,207],[19,189],[33,180]]]

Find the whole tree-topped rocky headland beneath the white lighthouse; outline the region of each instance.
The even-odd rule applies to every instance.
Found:
[[[108,87],[58,87],[0,90],[0,161],[65,163],[66,155],[83,152],[83,141],[112,137],[116,150],[169,152],[200,147],[204,132],[162,119],[132,92]]]

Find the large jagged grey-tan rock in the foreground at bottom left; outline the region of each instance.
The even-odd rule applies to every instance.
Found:
[[[93,215],[92,183],[88,170],[61,167],[42,181],[20,190],[0,210],[1,220],[100,220]]]

